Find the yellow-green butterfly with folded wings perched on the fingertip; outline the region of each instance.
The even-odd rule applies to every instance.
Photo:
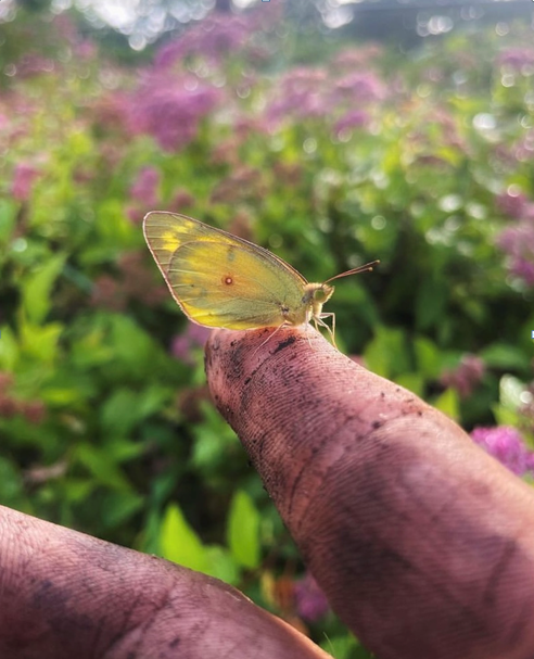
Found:
[[[243,330],[313,320],[334,344],[335,316],[322,312],[334,292],[329,282],[379,263],[308,283],[268,250],[186,215],[154,211],[144,217],[143,231],[173,297],[194,322]],[[332,329],[325,318],[332,318]]]

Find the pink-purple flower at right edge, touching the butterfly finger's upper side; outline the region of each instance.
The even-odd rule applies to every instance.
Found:
[[[471,439],[517,476],[533,470],[534,454],[526,448],[514,428],[475,428]]]

